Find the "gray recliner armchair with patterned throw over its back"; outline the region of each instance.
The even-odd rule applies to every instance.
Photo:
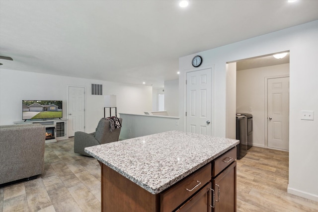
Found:
[[[122,123],[122,118],[119,118],[119,121]],[[90,156],[84,151],[85,147],[119,141],[120,130],[121,128],[116,128],[111,132],[110,121],[102,118],[97,125],[96,132],[89,134],[75,132],[74,152]]]

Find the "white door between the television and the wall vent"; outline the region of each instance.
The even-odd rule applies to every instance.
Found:
[[[85,88],[69,86],[69,137],[85,131]]]

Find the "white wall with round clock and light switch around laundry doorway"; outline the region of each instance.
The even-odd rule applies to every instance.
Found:
[[[184,122],[185,74],[195,70],[191,60],[203,58],[202,67],[215,67],[215,136],[226,136],[226,63],[290,51],[290,145],[288,192],[318,201],[318,117],[300,119],[302,110],[318,113],[318,21],[269,33],[227,46],[179,58],[179,116]],[[202,69],[202,67],[200,67]],[[236,107],[233,105],[232,107]],[[231,109],[232,110],[232,109]],[[184,126],[184,124],[183,124]],[[235,130],[235,129],[229,129]]]

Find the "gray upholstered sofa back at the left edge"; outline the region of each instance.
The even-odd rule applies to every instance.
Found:
[[[42,174],[44,151],[45,126],[0,126],[0,184]]]

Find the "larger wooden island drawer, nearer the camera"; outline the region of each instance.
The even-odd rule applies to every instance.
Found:
[[[211,163],[161,193],[161,212],[171,212],[211,180]]]

